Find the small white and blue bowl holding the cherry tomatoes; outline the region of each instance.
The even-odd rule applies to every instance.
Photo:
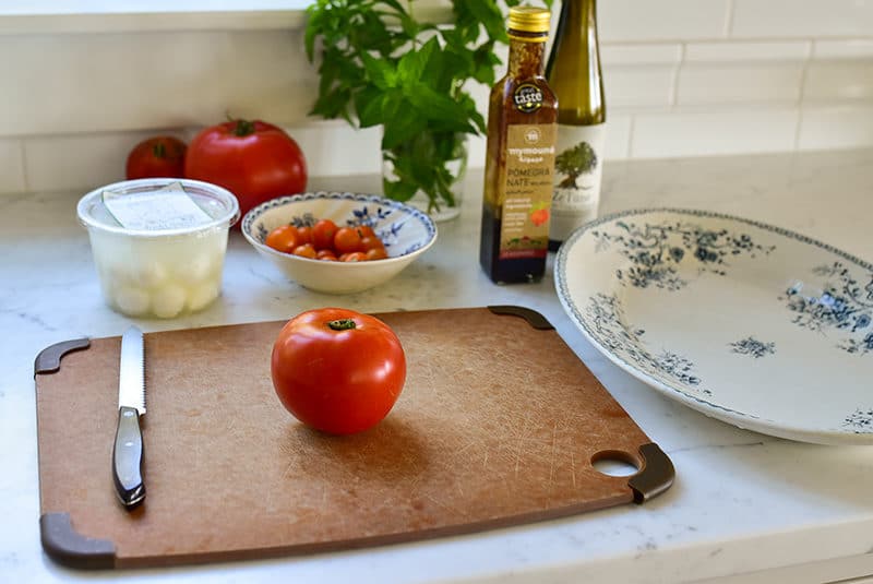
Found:
[[[385,245],[387,259],[327,262],[282,253],[264,243],[279,225],[312,226],[331,219],[338,227],[369,225]],[[297,284],[327,294],[352,294],[397,275],[436,241],[436,226],[421,211],[375,194],[308,192],[273,199],[242,218],[242,235],[258,252]]]

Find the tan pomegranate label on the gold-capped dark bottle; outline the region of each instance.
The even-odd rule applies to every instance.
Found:
[[[555,124],[506,128],[506,164],[500,184],[501,260],[545,258],[554,182]]]

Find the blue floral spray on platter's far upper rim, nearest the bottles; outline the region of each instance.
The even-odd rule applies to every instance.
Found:
[[[755,243],[748,234],[709,229],[686,221],[642,225],[617,221],[609,227],[612,230],[591,231],[597,239],[595,249],[601,252],[619,246],[622,255],[633,265],[618,269],[615,276],[622,284],[630,283],[637,288],[655,286],[678,290],[687,285],[679,275],[680,264],[694,264],[698,274],[708,272],[723,276],[731,257],[745,253],[755,258],[775,249]]]

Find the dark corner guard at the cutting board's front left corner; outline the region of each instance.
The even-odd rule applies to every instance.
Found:
[[[115,545],[77,533],[70,523],[69,513],[43,514],[39,532],[43,549],[61,565],[85,570],[115,568]]]

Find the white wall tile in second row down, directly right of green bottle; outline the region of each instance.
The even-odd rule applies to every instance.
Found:
[[[673,103],[675,65],[603,65],[607,107],[665,107]]]

